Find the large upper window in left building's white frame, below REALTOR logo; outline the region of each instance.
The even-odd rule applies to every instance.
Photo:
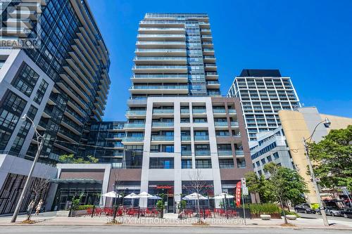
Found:
[[[39,74],[34,72],[26,63],[23,63],[15,79],[13,79],[12,85],[29,97],[32,94],[35,84],[37,84],[38,78]]]

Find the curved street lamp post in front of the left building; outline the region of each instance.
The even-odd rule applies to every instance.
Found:
[[[35,134],[37,136],[37,144],[39,144],[39,145],[38,145],[37,153],[35,154],[34,160],[32,162],[32,167],[30,168],[30,173],[27,176],[27,180],[25,181],[25,186],[23,187],[22,193],[20,195],[20,199],[18,200],[18,203],[16,205],[15,212],[13,212],[11,223],[15,223],[15,221],[17,219],[17,216],[18,216],[18,212],[20,212],[20,207],[21,207],[21,205],[23,203],[23,199],[25,198],[25,194],[27,193],[28,186],[30,185],[30,180],[32,178],[34,167],[35,167],[36,162],[38,161],[40,152],[42,151],[42,148],[43,148],[43,145],[44,145],[45,136],[46,136],[45,134],[44,134],[44,136],[42,136],[42,135],[40,135],[38,133],[37,128],[36,128],[34,122],[32,121],[32,119],[30,119],[30,117],[27,117],[27,115],[23,115],[23,117],[21,117],[21,119],[23,119],[23,121],[25,121],[25,119],[28,119],[28,120],[30,120],[30,122],[32,122]],[[40,143],[39,143],[39,138],[42,138]]]

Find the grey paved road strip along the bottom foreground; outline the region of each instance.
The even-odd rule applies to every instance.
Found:
[[[347,234],[351,230],[324,230],[324,234]],[[24,234],[61,234],[61,233],[103,233],[103,234],[130,234],[130,233],[258,233],[258,234],[321,234],[322,230],[312,229],[282,229],[282,228],[157,228],[157,227],[123,227],[123,226],[11,226],[1,227],[0,233],[24,233]]]

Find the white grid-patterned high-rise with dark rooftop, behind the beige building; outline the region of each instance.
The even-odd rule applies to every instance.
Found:
[[[227,96],[241,100],[249,141],[256,141],[258,132],[281,126],[279,110],[301,106],[291,79],[282,77],[279,70],[242,70]]]

